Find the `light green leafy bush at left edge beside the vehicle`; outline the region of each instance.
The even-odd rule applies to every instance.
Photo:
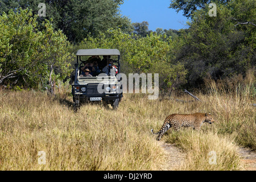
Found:
[[[0,16],[0,84],[37,88],[54,84],[70,72],[71,48],[61,31],[46,20],[39,31],[38,16],[28,9]]]

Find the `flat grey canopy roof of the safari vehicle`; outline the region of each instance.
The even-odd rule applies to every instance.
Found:
[[[76,56],[119,56],[118,49],[79,49]]]

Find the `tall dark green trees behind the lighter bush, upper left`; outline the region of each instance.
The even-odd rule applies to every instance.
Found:
[[[63,31],[68,40],[81,42],[90,33],[97,36],[108,28],[121,28],[123,31],[132,32],[130,19],[122,16],[119,6],[123,0],[0,0],[0,14],[19,7],[32,10],[38,14],[39,3],[46,4],[46,17],[38,17],[40,23],[45,19],[52,19],[55,30]]]

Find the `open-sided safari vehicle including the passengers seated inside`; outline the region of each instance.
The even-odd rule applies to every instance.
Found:
[[[118,78],[121,72],[118,49],[79,49],[76,56],[71,76],[75,110],[82,102],[103,102],[117,109],[123,96]],[[83,60],[86,57],[89,58]]]

